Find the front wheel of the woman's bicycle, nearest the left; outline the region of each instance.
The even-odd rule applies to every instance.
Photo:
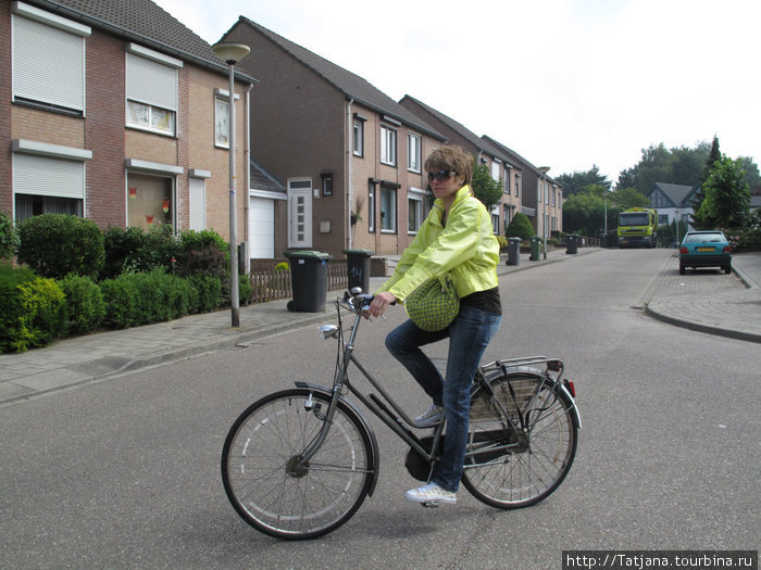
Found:
[[[222,480],[240,517],[279,539],[314,539],[337,529],[370,491],[373,447],[362,419],[339,402],[316,454],[302,453],[325,422],[329,397],[309,389],[252,404],[230,428]]]

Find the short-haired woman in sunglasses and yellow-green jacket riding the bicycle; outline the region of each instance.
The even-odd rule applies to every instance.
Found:
[[[446,416],[447,429],[440,460],[431,482],[412,489],[406,497],[415,503],[454,503],[462,477],[467,442],[467,414],[473,376],[502,320],[497,264],[499,243],[491,217],[471,190],[473,156],[460,147],[436,149],[425,169],[436,202],[417,236],[404,250],[394,276],[370,305],[379,317],[386,307],[407,296],[423,282],[449,274],[460,296],[460,311],[444,330],[429,332],[407,320],[386,339],[386,347],[408,369],[433,400],[415,418],[433,427]],[[421,346],[449,339],[446,379]]]

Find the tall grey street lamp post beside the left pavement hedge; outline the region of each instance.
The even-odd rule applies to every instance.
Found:
[[[251,49],[242,43],[228,43],[224,41],[215,43],[211,49],[219,58],[227,63],[229,68],[229,113],[227,121],[227,142],[229,144],[229,304],[233,328],[238,328],[240,327],[240,301],[238,299],[238,215],[235,197],[235,64],[244,59]]]

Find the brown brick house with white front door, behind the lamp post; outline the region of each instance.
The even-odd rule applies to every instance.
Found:
[[[251,48],[239,62],[260,81],[251,151],[286,187],[271,214],[275,255],[401,253],[429,207],[423,161],[446,137],[365,79],[244,16],[223,40]]]

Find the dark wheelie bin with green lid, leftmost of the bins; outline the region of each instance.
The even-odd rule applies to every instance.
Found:
[[[290,283],[294,290],[294,299],[288,301],[288,311],[325,311],[327,261],[330,255],[311,250],[285,252],[284,255],[290,261]]]

